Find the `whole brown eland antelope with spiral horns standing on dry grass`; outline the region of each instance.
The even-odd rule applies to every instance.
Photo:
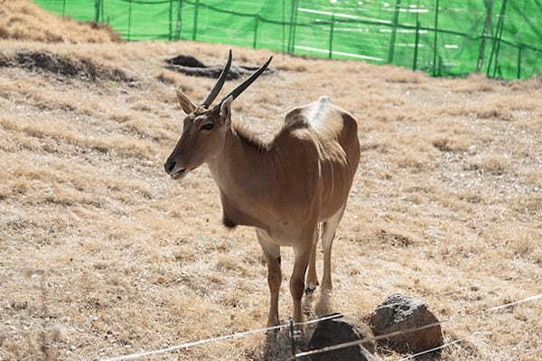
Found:
[[[215,106],[211,104],[224,85],[231,51],[216,85],[200,106],[178,90],[177,98],[187,116],[181,138],[164,163],[173,180],[181,180],[206,163],[220,190],[224,226],[256,227],[271,294],[267,326],[279,322],[281,245],[294,247],[290,292],[294,321],[303,320],[301,299],[307,266],[305,292],[313,292],[318,284],[315,258],[321,224],[322,290],[332,290],[332,241],[360,161],[356,120],[333,106],[329,97],[290,110],[269,143],[231,122],[231,102],[261,75],[272,58]]]

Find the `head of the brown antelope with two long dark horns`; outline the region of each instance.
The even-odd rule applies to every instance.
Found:
[[[229,51],[226,66],[220,72],[215,86],[201,106],[196,106],[182,91],[177,90],[177,99],[186,116],[183,121],[182,135],[173,153],[164,163],[164,169],[173,180],[181,180],[189,171],[198,168],[204,162],[215,157],[223,148],[224,139],[231,122],[231,102],[235,100],[254,80],[267,68],[273,57],[257,69],[250,78],[246,79],[238,88],[233,89],[220,102],[211,106],[219,95],[220,89],[226,81],[231,65],[231,51]]]

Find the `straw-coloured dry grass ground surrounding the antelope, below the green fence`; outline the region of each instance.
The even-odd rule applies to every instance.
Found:
[[[220,225],[206,167],[181,183],[163,170],[182,127],[173,88],[197,100],[213,84],[163,70],[163,60],[221,63],[228,49],[0,42],[1,360],[98,359],[265,325],[253,232]],[[233,51],[254,65],[269,55]],[[97,76],[36,69],[28,59],[43,53]],[[326,309],[364,317],[393,292],[427,301],[439,319],[542,293],[542,80],[432,79],[280,54],[272,68],[236,100],[235,121],[268,139],[289,108],[323,94],[359,121],[331,306],[317,292],[307,319]],[[284,248],[283,320],[291,268]],[[467,339],[443,359],[540,359],[541,315],[538,300],[455,317],[445,340]],[[287,345],[257,335],[149,359],[285,359]]]

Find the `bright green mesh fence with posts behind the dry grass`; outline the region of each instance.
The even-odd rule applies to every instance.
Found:
[[[36,0],[129,41],[224,42],[435,76],[542,73],[542,0]]]

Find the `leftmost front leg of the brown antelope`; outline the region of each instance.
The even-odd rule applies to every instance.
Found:
[[[282,282],[280,269],[280,247],[271,242],[271,238],[263,229],[256,230],[257,239],[266,255],[267,283],[269,285],[270,301],[267,327],[278,325],[278,292]]]

